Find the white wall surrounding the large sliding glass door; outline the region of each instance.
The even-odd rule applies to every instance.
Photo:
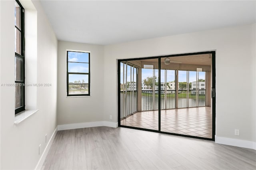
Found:
[[[113,121],[117,121],[117,59],[216,50],[216,136],[255,144],[255,28],[252,24],[106,45],[105,120],[112,115]],[[241,91],[241,86],[246,90]],[[234,129],[240,129],[240,136],[234,136]]]

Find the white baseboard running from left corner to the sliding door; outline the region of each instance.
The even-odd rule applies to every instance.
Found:
[[[109,122],[109,121],[99,121],[99,122],[85,122],[85,123],[73,123],[66,125],[58,125],[58,130],[69,130],[76,128],[88,128],[88,127],[118,127],[117,122]]]

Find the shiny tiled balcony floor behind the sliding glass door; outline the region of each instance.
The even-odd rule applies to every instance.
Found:
[[[158,111],[135,113],[121,125],[158,130]],[[161,131],[212,138],[211,107],[162,110]]]

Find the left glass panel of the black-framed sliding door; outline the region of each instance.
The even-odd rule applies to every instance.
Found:
[[[120,125],[158,130],[158,59],[120,63]]]

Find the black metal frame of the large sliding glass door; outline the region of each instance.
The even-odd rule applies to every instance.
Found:
[[[122,61],[131,61],[131,60],[142,60],[142,59],[158,59],[158,81],[161,82],[161,58],[162,57],[178,57],[178,56],[186,56],[186,55],[200,55],[200,54],[212,54],[212,138],[203,138],[198,136],[190,136],[190,135],[184,135],[184,134],[176,134],[176,133],[170,133],[170,132],[162,132],[161,131],[161,98],[158,96],[158,130],[153,129],[147,129],[147,128],[138,128],[138,127],[130,127],[121,125],[121,117],[120,117],[120,111],[121,111],[121,99],[120,99],[120,63]],[[215,83],[216,83],[216,66],[215,66],[215,54],[216,51],[203,51],[203,52],[196,52],[196,53],[182,53],[182,54],[173,54],[173,55],[161,55],[161,56],[153,56],[153,57],[140,57],[140,58],[130,58],[130,59],[118,59],[118,127],[125,127],[125,128],[133,128],[138,130],[146,130],[150,132],[158,132],[158,133],[164,133],[164,134],[172,134],[176,136],[185,136],[190,138],[199,138],[199,139],[205,139],[205,140],[213,140],[215,141],[215,129],[216,129],[216,89],[215,89]],[[161,83],[158,83],[158,94],[161,93]]]

